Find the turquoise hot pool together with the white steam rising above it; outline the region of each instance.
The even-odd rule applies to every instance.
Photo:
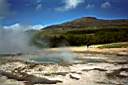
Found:
[[[29,60],[35,63],[67,63],[74,62],[76,55],[66,48],[60,49],[58,52],[44,51],[36,56],[30,56]]]

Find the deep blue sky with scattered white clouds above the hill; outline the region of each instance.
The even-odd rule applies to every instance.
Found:
[[[128,19],[128,0],[0,0],[0,27],[41,29],[81,17]]]

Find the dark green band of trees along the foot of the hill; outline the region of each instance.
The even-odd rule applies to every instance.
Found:
[[[128,29],[40,31],[33,37],[38,47],[82,46],[128,41]]]

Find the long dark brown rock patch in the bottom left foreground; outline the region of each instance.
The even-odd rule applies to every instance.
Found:
[[[26,73],[9,73],[9,72],[1,72],[2,75],[8,77],[9,79],[15,79],[17,81],[26,81],[26,83],[32,84],[56,84],[62,81],[60,80],[51,80],[45,77],[36,77],[34,75],[29,75]]]

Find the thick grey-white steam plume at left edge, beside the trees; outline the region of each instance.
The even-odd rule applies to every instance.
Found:
[[[22,30],[0,29],[0,54],[29,52],[30,37]]]

